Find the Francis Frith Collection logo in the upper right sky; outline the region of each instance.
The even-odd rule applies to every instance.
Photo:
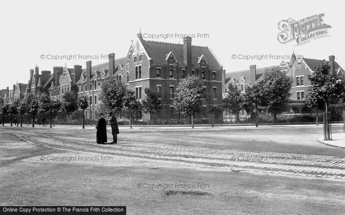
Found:
[[[281,20],[278,23],[278,28],[281,31],[278,34],[278,41],[280,43],[296,41],[296,45],[301,45],[316,38],[329,36],[328,28],[331,26],[324,23],[323,16],[322,13],[299,21],[292,18]]]

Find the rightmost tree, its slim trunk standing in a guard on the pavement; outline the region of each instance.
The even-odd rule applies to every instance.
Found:
[[[319,66],[315,67],[315,72],[308,75],[311,82],[307,100],[311,104],[319,105],[321,101],[325,106],[325,124],[326,138],[330,139],[330,128],[328,125],[329,114],[328,107],[332,100],[341,99],[344,90],[344,77],[342,75],[331,75],[331,65],[328,61],[323,61]]]

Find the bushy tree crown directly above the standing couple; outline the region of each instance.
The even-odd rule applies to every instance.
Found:
[[[129,91],[124,82],[109,78],[103,82],[101,89],[100,98],[105,109],[124,109],[124,98]]]

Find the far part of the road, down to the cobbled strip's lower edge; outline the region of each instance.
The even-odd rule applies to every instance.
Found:
[[[116,145],[96,144],[95,131],[90,129],[1,129],[40,146],[74,154],[116,155],[215,171],[345,180],[345,150],[318,143],[322,128],[316,126],[136,128],[123,130]]]

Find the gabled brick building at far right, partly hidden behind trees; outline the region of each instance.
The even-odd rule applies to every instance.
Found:
[[[322,62],[323,60],[308,59],[303,57],[296,58],[295,53],[292,53],[289,62],[282,61],[278,65],[280,70],[285,71],[286,74],[293,79],[291,88],[291,102],[304,102],[310,87],[308,75],[315,72],[315,66],[318,66]],[[331,64],[331,74],[344,74],[344,69],[335,61],[335,57],[333,55],[329,56],[329,62]],[[245,87],[251,86],[255,84],[255,82],[259,81],[264,72],[264,67],[256,68],[256,65],[250,65],[248,70],[226,73],[225,90],[227,90],[229,84],[233,84],[239,86],[244,93]]]

